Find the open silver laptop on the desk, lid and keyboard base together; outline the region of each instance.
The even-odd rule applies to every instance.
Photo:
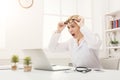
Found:
[[[69,66],[52,66],[48,61],[43,49],[24,49],[23,53],[25,54],[25,56],[30,56],[32,58],[32,65],[34,69],[49,71],[71,69]]]

